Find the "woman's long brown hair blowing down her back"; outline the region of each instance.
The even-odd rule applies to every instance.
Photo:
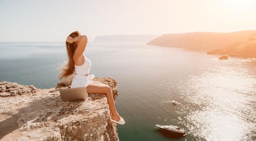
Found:
[[[70,35],[70,37],[75,38],[80,36],[80,33],[78,31],[74,31],[72,32]],[[67,54],[68,54],[68,62],[66,62],[64,60],[64,64],[61,63],[61,67],[59,67],[59,69],[61,70],[60,74],[59,74],[59,81],[63,82],[63,81],[71,81],[71,79],[74,77],[74,70],[75,70],[75,66],[74,66],[74,53],[75,50],[77,48],[77,44],[76,42],[70,44],[69,42],[66,41],[66,50],[67,50]]]

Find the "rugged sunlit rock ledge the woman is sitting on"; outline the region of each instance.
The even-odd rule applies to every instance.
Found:
[[[109,85],[116,100],[114,79],[93,80]],[[62,102],[58,90],[70,85],[66,81],[37,89],[0,82],[0,141],[119,141],[116,123],[108,117],[106,95],[92,93],[87,100]]]

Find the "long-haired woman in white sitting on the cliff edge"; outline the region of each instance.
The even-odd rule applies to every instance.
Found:
[[[66,50],[68,52],[67,68],[62,68],[59,80],[74,75],[71,88],[86,87],[87,93],[104,93],[108,99],[110,109],[110,120],[118,124],[125,124],[125,120],[116,111],[111,88],[98,81],[93,81],[94,75],[89,75],[91,60],[85,56],[87,45],[86,35],[81,35],[78,31],[72,32],[66,40]],[[89,75],[89,76],[88,76]]]

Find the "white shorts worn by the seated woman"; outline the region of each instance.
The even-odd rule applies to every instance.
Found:
[[[75,75],[73,77],[70,88],[87,87],[90,83],[93,83],[94,75]]]

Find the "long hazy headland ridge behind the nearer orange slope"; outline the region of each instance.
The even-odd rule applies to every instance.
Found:
[[[235,42],[241,42],[250,35],[255,34],[256,30],[237,31],[230,33],[217,32],[193,32],[180,34],[164,34],[149,41],[147,45],[165,46],[176,48],[193,49],[223,49]]]

